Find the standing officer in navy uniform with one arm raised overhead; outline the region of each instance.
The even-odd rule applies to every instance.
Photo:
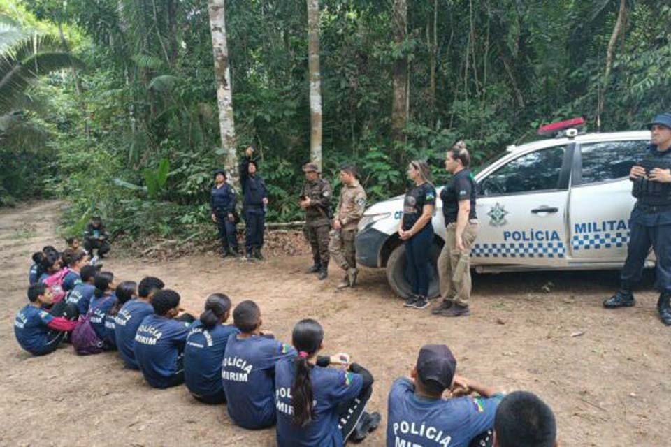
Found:
[[[266,229],[266,207],[268,191],[266,182],[257,175],[259,166],[252,159],[254,148],[247,147],[245,159],[240,163],[240,186],[243,187],[243,215],[245,216],[245,250],[247,259],[263,259],[261,247],[264,246]]]

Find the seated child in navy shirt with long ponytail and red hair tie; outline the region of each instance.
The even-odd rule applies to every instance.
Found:
[[[373,385],[370,372],[356,363],[347,367],[346,354],[331,358],[344,363],[337,369],[310,362],[324,340],[324,329],[315,320],[299,321],[291,340],[298,356],[275,367],[277,446],[342,446],[360,420],[365,423],[357,441],[375,430],[380,415],[365,413]]]

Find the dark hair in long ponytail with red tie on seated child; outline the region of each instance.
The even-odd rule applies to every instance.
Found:
[[[291,383],[291,406],[294,416],[291,423],[298,427],[304,427],[312,421],[313,416],[313,394],[312,381],[310,381],[310,369],[312,365],[308,358],[312,357],[322,347],[324,329],[322,325],[312,319],[301,320],[294,326],[291,342],[294,344],[298,356],[294,360],[294,383]]]

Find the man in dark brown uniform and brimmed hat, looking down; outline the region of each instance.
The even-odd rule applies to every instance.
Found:
[[[331,196],[333,189],[319,176],[315,163],[303,166],[305,185],[298,203],[305,210],[305,236],[312,247],[314,265],[308,273],[319,272],[319,279],[329,276],[329,231],[331,230]]]

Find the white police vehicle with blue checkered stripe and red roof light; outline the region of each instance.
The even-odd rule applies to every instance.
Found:
[[[635,198],[629,171],[645,155],[649,131],[584,133],[582,119],[544,126],[556,138],[509,146],[475,175],[479,233],[471,251],[477,272],[621,268]],[[440,195],[440,188],[438,188]],[[435,240],[429,295],[438,295],[435,262],[445,238],[442,203],[433,216]],[[356,260],[386,268],[405,298],[405,249],[398,234],[403,196],[369,207],[359,223]],[[654,265],[654,258],[647,261]]]

